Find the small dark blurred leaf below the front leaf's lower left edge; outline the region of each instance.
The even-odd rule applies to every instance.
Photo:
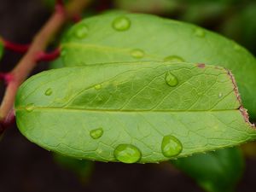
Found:
[[[77,160],[61,154],[53,153],[53,158],[59,166],[76,174],[83,183],[90,177],[94,166],[93,161]]]

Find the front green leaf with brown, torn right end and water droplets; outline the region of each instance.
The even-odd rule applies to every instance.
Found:
[[[221,67],[156,61],[64,67],[26,80],[15,114],[21,133],[48,150],[147,163],[255,139],[237,94]]]

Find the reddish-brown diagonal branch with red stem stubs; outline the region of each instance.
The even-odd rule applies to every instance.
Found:
[[[48,60],[59,54],[57,50],[53,55],[44,54],[44,50],[50,40],[55,36],[56,32],[60,31],[61,26],[63,26],[67,20],[73,18],[74,15],[81,14],[88,3],[90,3],[90,0],[73,0],[64,8],[62,1],[56,1],[55,13],[51,15],[43,28],[38,32],[35,38],[33,38],[32,44],[26,54],[11,72],[2,73],[2,79],[8,83],[0,107],[0,120],[2,123],[5,122],[9,114],[12,113],[16,91],[20,84],[22,84],[32,72],[39,58],[40,60],[45,58]]]

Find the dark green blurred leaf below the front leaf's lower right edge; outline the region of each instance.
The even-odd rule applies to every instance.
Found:
[[[225,148],[207,154],[172,160],[208,192],[234,191],[242,176],[244,160],[239,148]]]

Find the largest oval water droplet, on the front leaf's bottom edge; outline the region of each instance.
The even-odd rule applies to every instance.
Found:
[[[136,163],[142,157],[140,150],[131,144],[119,144],[114,149],[113,155],[123,163]]]

